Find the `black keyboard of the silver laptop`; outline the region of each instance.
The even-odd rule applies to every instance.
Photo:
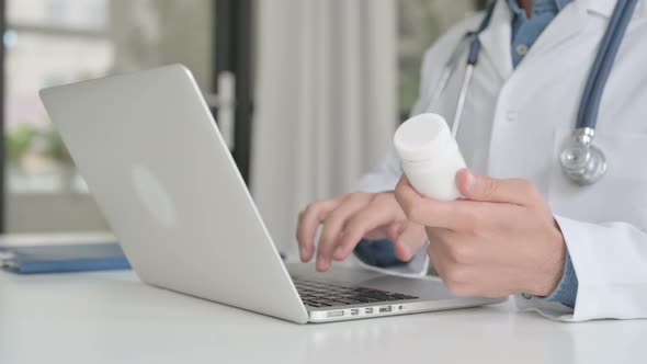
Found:
[[[345,287],[331,283],[307,281],[293,277],[294,285],[304,305],[310,307],[330,307],[416,299],[416,296],[402,295],[388,291]]]

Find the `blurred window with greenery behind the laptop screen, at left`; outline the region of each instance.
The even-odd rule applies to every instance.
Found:
[[[214,3],[5,1],[7,230],[107,228],[49,123],[38,90],[182,62],[192,69],[201,88],[211,91]]]

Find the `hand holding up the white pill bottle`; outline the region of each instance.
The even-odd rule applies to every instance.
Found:
[[[402,178],[396,197],[407,217],[427,226],[429,255],[461,296],[549,295],[564,270],[566,244],[537,189],[526,180],[456,174],[466,200],[429,200]]]

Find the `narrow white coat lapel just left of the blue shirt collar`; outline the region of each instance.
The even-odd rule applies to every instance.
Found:
[[[488,58],[503,80],[512,75],[511,19],[512,14],[506,1],[497,1],[490,25],[478,37],[484,56]]]

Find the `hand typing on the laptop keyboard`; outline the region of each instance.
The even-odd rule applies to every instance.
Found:
[[[390,239],[401,261],[410,260],[427,240],[424,228],[407,219],[393,193],[350,193],[314,202],[299,213],[296,238],[303,262],[315,254],[315,235],[321,224],[319,272],[330,269],[331,259],[347,259],[362,238]]]

